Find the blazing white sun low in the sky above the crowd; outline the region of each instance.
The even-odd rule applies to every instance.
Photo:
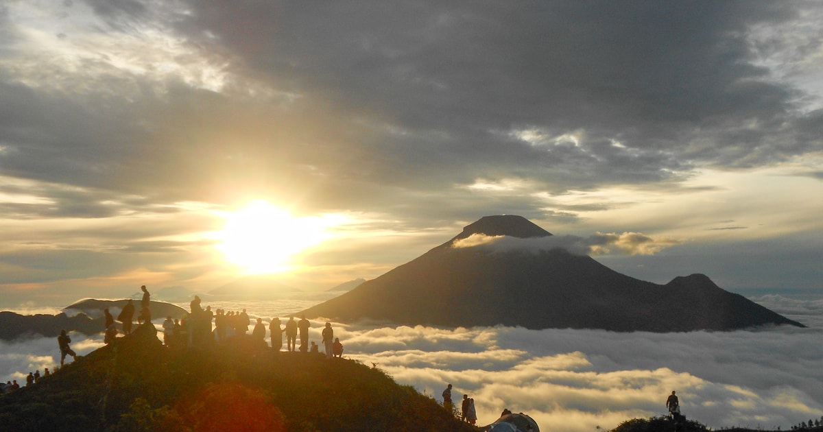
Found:
[[[293,217],[267,201],[253,201],[238,211],[223,213],[226,224],[217,245],[226,261],[248,274],[285,272],[296,253],[328,239],[319,217]]]

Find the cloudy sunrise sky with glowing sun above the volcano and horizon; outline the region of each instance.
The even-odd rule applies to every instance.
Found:
[[[823,289],[819,2],[0,3],[0,306],[374,278],[481,216]]]

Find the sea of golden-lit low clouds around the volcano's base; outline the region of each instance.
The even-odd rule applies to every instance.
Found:
[[[616,333],[332,325],[346,358],[376,365],[438,401],[452,383],[455,399],[463,393],[475,399],[483,425],[509,408],[532,416],[543,430],[611,429],[630,418],[662,415],[672,390],[687,418],[717,429],[788,429],[821,418],[823,298],[761,295],[751,300],[808,328]],[[215,302],[212,308],[246,308],[252,318],[268,322],[316,302]],[[319,342],[323,323],[312,324],[309,337]],[[101,335],[72,338],[80,355],[103,343]],[[53,338],[0,342],[0,379],[23,383],[30,370],[53,369],[58,354]]]

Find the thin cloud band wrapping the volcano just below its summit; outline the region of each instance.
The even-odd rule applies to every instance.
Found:
[[[465,239],[457,239],[452,247],[475,248],[488,247],[495,252],[525,250],[537,253],[541,250],[565,249],[577,255],[601,255],[606,253],[625,253],[628,255],[653,255],[661,250],[681,243],[677,239],[658,238],[641,233],[596,233],[587,238],[574,235],[551,235],[547,237],[519,239],[508,235],[473,234]]]

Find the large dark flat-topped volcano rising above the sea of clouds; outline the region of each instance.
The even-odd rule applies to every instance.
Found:
[[[719,288],[709,277],[666,285],[615,272],[565,249],[454,248],[472,235],[551,236],[522,216],[485,216],[448,242],[300,314],[447,327],[600,328],[616,332],[803,327]]]

